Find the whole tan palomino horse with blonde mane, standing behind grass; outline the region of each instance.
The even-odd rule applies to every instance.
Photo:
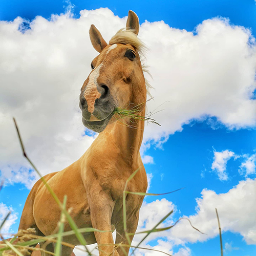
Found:
[[[127,183],[127,190],[145,193],[147,188],[139,152],[144,121],[118,120],[113,114],[117,107],[139,105],[138,115],[145,115],[146,85],[139,56],[144,46],[137,38],[138,32],[139,19],[132,11],[126,30],[118,31],[109,45],[95,26],[91,26],[90,39],[99,55],[92,61],[92,71],[81,88],[80,109],[84,126],[99,135],[80,159],[60,172],[45,176],[61,201],[67,195],[67,208],[72,209],[71,217],[79,228],[113,230],[115,226],[115,243],[126,247],[115,247],[111,231],[83,234],[88,244],[98,243],[100,256],[129,252],[123,228],[123,190],[127,179],[138,168],[138,173]],[[143,196],[127,194],[125,200],[126,231],[134,233]],[[39,180],[27,198],[19,229],[32,227],[37,234],[48,236],[56,232],[60,214],[57,203]],[[70,230],[68,223],[67,230]],[[63,241],[79,245],[75,236],[65,237]],[[47,250],[53,251],[54,245],[49,244]],[[62,247],[62,255],[71,252],[69,247]]]

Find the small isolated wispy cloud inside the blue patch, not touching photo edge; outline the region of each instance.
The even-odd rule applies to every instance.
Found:
[[[217,173],[220,180],[223,181],[228,179],[226,172],[227,161],[234,156],[236,155],[232,151],[214,151],[214,162],[211,164],[211,169]]]

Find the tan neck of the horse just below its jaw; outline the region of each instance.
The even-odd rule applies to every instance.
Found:
[[[145,110],[140,116],[145,116]],[[113,122],[100,133],[96,140],[105,141],[110,150],[118,152],[118,155],[129,164],[137,163],[140,157],[139,150],[143,139],[144,121],[134,119],[112,118]],[[111,120],[111,121],[112,121]]]

